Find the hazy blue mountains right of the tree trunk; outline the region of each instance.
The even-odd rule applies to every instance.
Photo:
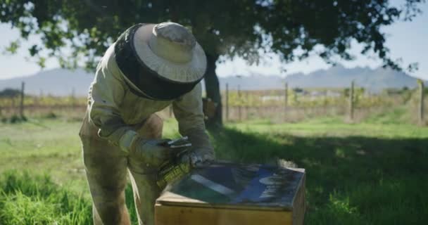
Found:
[[[405,72],[377,68],[344,68],[341,65],[328,70],[316,70],[303,75],[296,73],[285,78],[279,76],[251,75],[249,77],[222,77],[220,84],[222,89],[229,84],[230,89],[282,89],[287,82],[290,87],[300,88],[344,88],[355,81],[355,85],[363,86],[370,91],[381,91],[386,88],[414,87],[416,78],[410,77]]]

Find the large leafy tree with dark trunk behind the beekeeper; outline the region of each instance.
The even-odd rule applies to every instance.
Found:
[[[218,103],[208,127],[221,125],[221,101],[215,65],[220,56],[240,56],[259,63],[263,53],[277,53],[284,63],[303,59],[316,51],[329,63],[340,56],[351,60],[351,41],[363,44],[362,53],[374,53],[384,65],[400,70],[389,57],[381,27],[397,20],[411,20],[424,0],[2,0],[0,21],[18,27],[22,39],[39,34],[42,44],[32,46],[31,56],[44,65],[46,57],[58,58],[63,67],[84,60],[94,68],[99,57],[119,34],[134,23],[172,20],[188,26],[208,57],[206,91]],[[8,48],[15,51],[15,41]],[[315,48],[320,46],[320,48]],[[42,49],[44,49],[42,51]],[[71,49],[68,56],[63,49]],[[413,68],[411,65],[410,68]]]

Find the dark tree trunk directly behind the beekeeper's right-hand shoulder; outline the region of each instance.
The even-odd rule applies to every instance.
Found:
[[[218,55],[207,54],[206,56],[208,63],[205,75],[206,96],[217,104],[214,116],[206,120],[206,127],[209,130],[213,130],[222,127],[222,98],[220,96],[218,77],[215,74],[215,62],[218,60]]]

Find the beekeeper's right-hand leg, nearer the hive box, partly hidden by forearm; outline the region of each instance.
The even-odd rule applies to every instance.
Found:
[[[138,133],[147,139],[162,138],[163,121],[158,115],[151,115]],[[132,158],[128,159],[132,189],[134,191],[135,207],[137,208],[139,224],[154,225],[154,205],[160,195],[156,185],[157,168]]]

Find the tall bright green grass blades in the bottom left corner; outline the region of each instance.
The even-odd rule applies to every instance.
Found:
[[[0,181],[0,224],[90,224],[91,204],[49,176],[6,172]]]

